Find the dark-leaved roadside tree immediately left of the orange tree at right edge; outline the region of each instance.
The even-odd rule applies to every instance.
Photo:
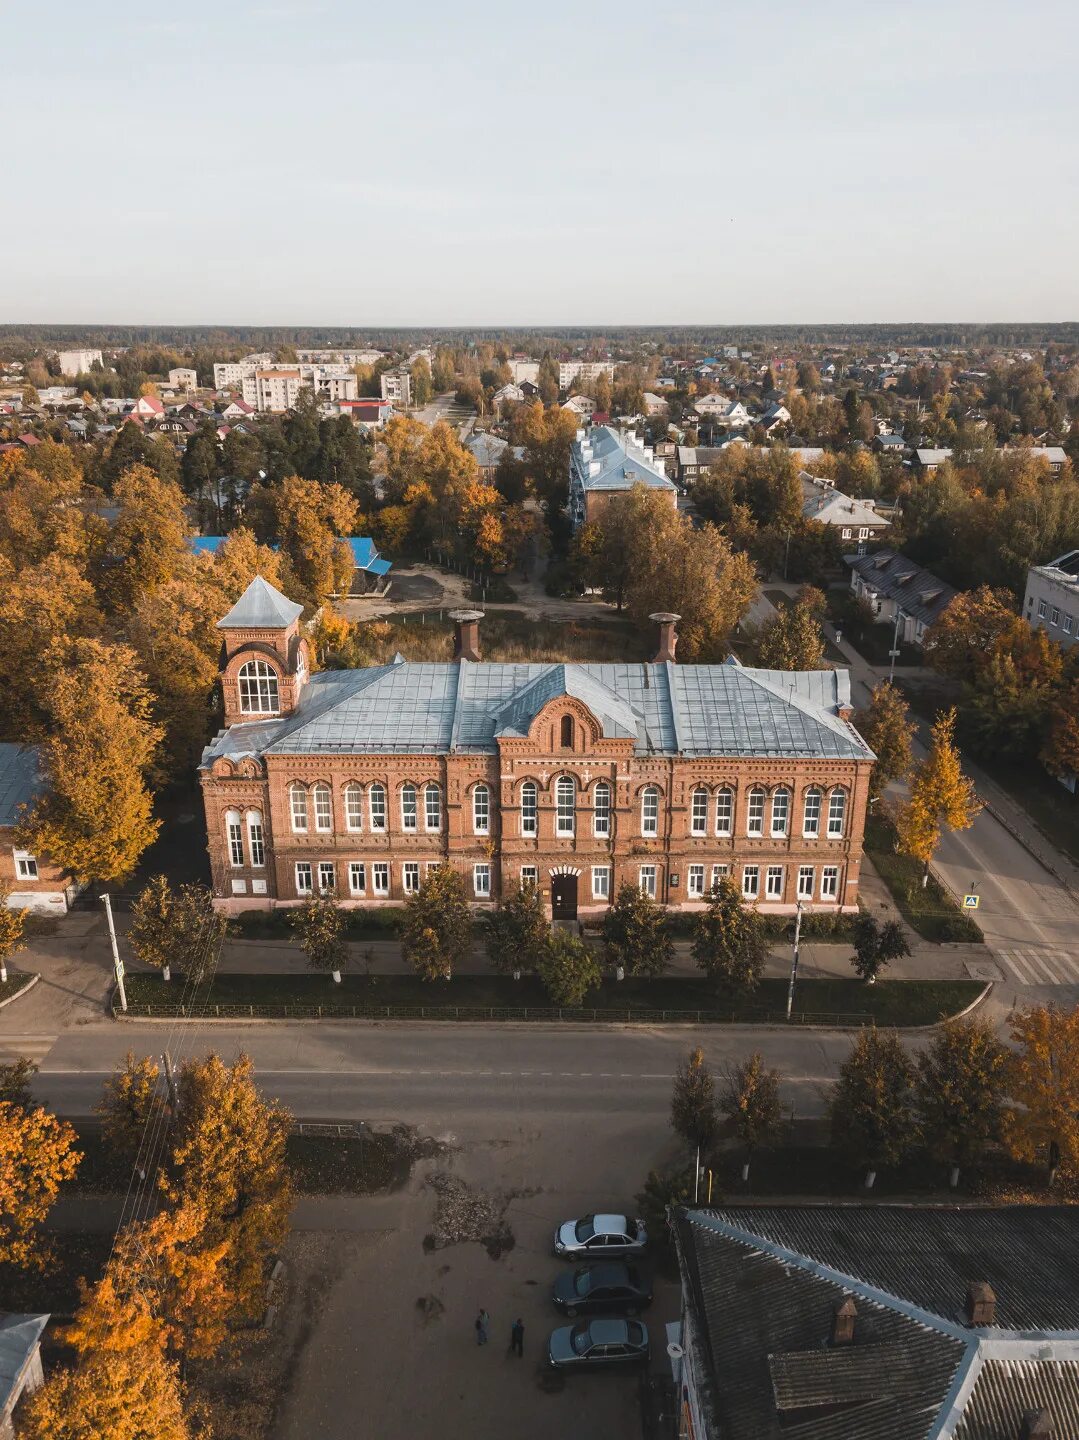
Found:
[[[1008,1053],[984,1020],[938,1025],[918,1057],[916,1104],[929,1152],[951,1166],[975,1164],[1000,1133]]]

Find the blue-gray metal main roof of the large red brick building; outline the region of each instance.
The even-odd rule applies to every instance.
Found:
[[[870,759],[836,713],[850,703],[847,671],[787,672],[738,664],[409,664],[324,671],[294,714],[232,726],[219,755],[494,753],[497,736],[524,734],[547,701],[568,694],[605,736],[638,755]]]

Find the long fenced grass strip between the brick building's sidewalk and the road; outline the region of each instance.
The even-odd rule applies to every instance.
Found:
[[[795,995],[794,1020],[802,1024],[857,1025],[874,1020],[882,1025],[929,1025],[970,1005],[980,991],[977,981],[880,981],[877,985],[863,985],[856,978],[802,981]],[[127,994],[128,1015],[170,1014],[179,996],[177,988],[166,986],[157,975],[131,975]],[[193,1014],[219,1011],[235,1018],[248,1007],[267,1007],[282,1017],[285,1007],[311,1008],[315,1014],[318,1007],[328,1014],[341,1009],[352,1014],[356,1007],[357,1018],[558,1018],[534,976],[514,981],[504,975],[458,975],[435,984],[413,975],[346,975],[340,985],[321,975],[218,975],[209,992],[199,996]],[[419,1009],[424,1017],[416,1014]],[[697,976],[604,981],[586,996],[583,1009],[566,1015],[589,1021],[654,1021],[664,1012],[670,1018],[676,1018],[676,1012],[693,1012],[720,1022],[782,1021],[787,981],[766,979],[752,996],[735,1001]]]

